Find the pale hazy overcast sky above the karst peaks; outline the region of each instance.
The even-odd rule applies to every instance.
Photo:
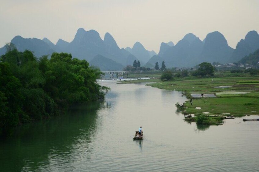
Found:
[[[139,41],[159,52],[185,34],[201,40],[221,32],[235,48],[250,30],[259,32],[259,0],[2,0],[0,47],[20,35],[71,42],[78,28],[109,32],[120,48]]]

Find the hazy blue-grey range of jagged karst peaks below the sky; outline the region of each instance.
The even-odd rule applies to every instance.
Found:
[[[77,30],[71,42],[62,39],[53,44],[47,38],[23,38],[16,36],[11,40],[18,51],[26,49],[34,52],[36,57],[50,55],[53,52],[71,53],[74,58],[85,59],[90,65],[101,70],[121,70],[126,65],[133,65],[139,60],[141,66],[154,68],[155,62],[165,61],[167,68],[192,67],[201,62],[237,62],[241,58],[259,49],[259,35],[256,31],[247,33],[236,48],[228,46],[227,40],[220,32],[207,34],[202,41],[192,33],[186,34],[176,45],[173,42],[161,43],[159,53],[148,51],[140,42],[132,48],[119,48],[111,34],[106,33],[104,40],[95,30]],[[0,48],[0,55],[5,54],[5,47]],[[160,65],[161,67],[161,65]]]

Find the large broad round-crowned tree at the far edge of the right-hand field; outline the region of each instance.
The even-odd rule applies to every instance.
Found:
[[[192,75],[194,76],[206,76],[206,75],[213,76],[214,75],[215,68],[210,63],[203,62],[198,66],[199,68],[195,72],[193,72]]]

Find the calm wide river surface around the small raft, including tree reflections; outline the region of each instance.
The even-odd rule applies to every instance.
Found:
[[[181,92],[99,83],[111,88],[104,101],[2,139],[0,171],[258,171],[259,121],[197,127],[176,112]],[[140,126],[144,140],[133,141]]]

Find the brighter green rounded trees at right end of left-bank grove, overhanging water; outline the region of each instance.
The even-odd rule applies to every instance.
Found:
[[[86,60],[72,59],[71,54],[53,53],[47,66],[44,90],[61,107],[104,98],[103,91],[109,90],[96,82],[102,74],[99,69],[89,67]]]

